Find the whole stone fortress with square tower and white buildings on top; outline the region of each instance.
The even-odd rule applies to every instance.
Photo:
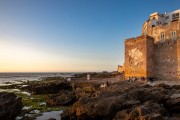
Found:
[[[141,36],[125,40],[125,79],[180,79],[179,13],[153,13]]]

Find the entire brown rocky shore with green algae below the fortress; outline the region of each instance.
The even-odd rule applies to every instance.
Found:
[[[71,81],[51,77],[2,87],[29,95],[1,92],[0,100],[5,102],[0,104],[0,119],[17,115],[16,119],[21,120],[42,119],[37,116],[51,114],[50,111],[59,113],[59,120],[180,119],[180,85],[118,80],[112,73],[93,73],[91,80],[86,76],[77,74]]]

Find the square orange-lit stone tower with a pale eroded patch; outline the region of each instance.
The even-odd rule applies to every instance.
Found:
[[[126,77],[146,77],[152,74],[152,59],[147,62],[147,58],[152,57],[153,38],[140,36],[130,38],[125,41],[125,75]],[[149,52],[149,54],[147,54]],[[147,66],[150,66],[149,68]]]

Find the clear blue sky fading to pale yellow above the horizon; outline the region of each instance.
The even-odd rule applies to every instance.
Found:
[[[0,0],[0,72],[116,71],[124,40],[179,0]]]

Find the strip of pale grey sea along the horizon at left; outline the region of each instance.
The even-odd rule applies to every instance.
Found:
[[[44,77],[72,77],[74,73],[0,73],[0,84],[42,80]]]

